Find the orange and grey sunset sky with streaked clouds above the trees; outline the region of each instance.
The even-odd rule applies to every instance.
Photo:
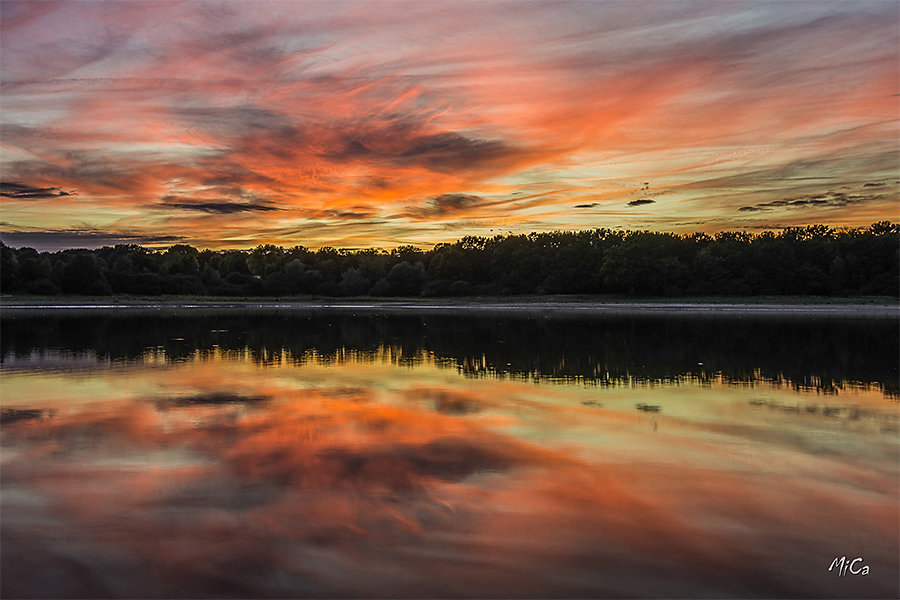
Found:
[[[0,2],[0,239],[900,220],[900,3]]]

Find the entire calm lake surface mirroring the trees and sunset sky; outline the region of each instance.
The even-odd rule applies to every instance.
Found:
[[[897,325],[5,318],[2,595],[896,597]]]

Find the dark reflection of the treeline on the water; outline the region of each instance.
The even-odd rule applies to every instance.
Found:
[[[49,360],[54,351],[113,362],[224,352],[261,364],[352,358],[409,366],[427,356],[473,377],[591,385],[768,382],[823,393],[874,388],[896,399],[896,333],[891,319],[758,316],[42,316],[4,319],[0,357],[15,368],[23,359]]]

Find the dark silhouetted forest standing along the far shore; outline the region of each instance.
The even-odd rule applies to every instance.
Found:
[[[900,296],[900,225],[679,235],[594,229],[466,236],[429,250],[0,243],[0,293],[446,297]]]

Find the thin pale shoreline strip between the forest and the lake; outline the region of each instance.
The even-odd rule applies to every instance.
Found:
[[[737,299],[743,301],[695,299],[630,300],[587,298],[535,299],[304,299],[304,300],[204,300],[164,298],[135,299],[0,299],[0,316],[37,316],[40,314],[115,314],[137,315],[184,313],[328,313],[351,314],[492,314],[523,316],[792,316],[900,319],[900,302],[854,302],[837,298],[832,303],[804,302],[802,298]],[[819,300],[819,299],[816,299]]]

